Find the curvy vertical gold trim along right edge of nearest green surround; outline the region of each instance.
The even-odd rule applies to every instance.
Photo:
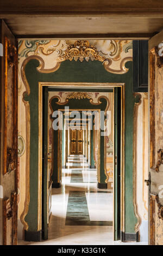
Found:
[[[141,225],[141,216],[137,209],[137,114],[138,108],[141,104],[141,94],[135,93],[135,98],[138,98],[138,102],[134,105],[134,129],[133,129],[133,204],[134,213],[137,218],[137,223],[135,224],[135,232],[139,231]]]

